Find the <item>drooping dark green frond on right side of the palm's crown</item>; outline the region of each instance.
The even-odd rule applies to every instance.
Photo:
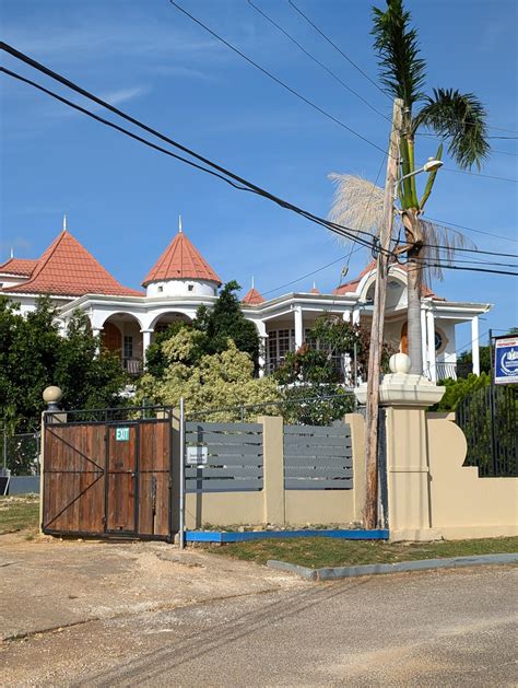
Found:
[[[486,112],[473,93],[454,89],[434,89],[425,105],[413,119],[413,130],[420,126],[432,129],[448,142],[448,153],[459,167],[473,164],[480,170],[490,153]]]

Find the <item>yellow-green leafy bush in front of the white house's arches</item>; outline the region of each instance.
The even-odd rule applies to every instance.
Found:
[[[204,353],[205,334],[184,327],[162,343],[167,365],[160,377],[146,373],[137,390],[137,403],[143,398],[155,404],[178,406],[186,400],[188,413],[207,409],[220,409],[208,416],[211,421],[231,421],[239,418],[239,411],[227,407],[263,404],[280,398],[273,377],[254,376],[254,362],[248,353],[239,351],[232,339],[226,348],[216,353]],[[257,409],[246,413],[252,418]]]

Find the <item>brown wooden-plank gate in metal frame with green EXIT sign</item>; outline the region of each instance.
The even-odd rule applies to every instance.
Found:
[[[169,540],[172,409],[45,413],[44,533]]]

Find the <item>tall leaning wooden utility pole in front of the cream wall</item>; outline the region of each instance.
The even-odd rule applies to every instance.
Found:
[[[379,376],[385,329],[385,301],[387,296],[387,275],[389,267],[388,250],[392,237],[393,202],[399,175],[399,142],[403,123],[403,101],[396,98],[392,109],[392,130],[387,161],[385,182],[384,222],[380,229],[379,252],[376,261],[376,287],[374,292],[373,324],[370,327],[370,348],[368,351],[367,404],[366,404],[366,442],[365,442],[365,527],[378,525],[378,416],[379,416]]]

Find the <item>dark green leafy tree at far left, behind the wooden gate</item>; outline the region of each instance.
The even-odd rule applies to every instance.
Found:
[[[9,431],[39,418],[48,385],[62,388],[63,409],[122,404],[126,374],[117,357],[97,352],[98,345],[82,313],[73,314],[63,337],[49,299],[39,299],[22,316],[16,304],[0,296],[0,418]]]

